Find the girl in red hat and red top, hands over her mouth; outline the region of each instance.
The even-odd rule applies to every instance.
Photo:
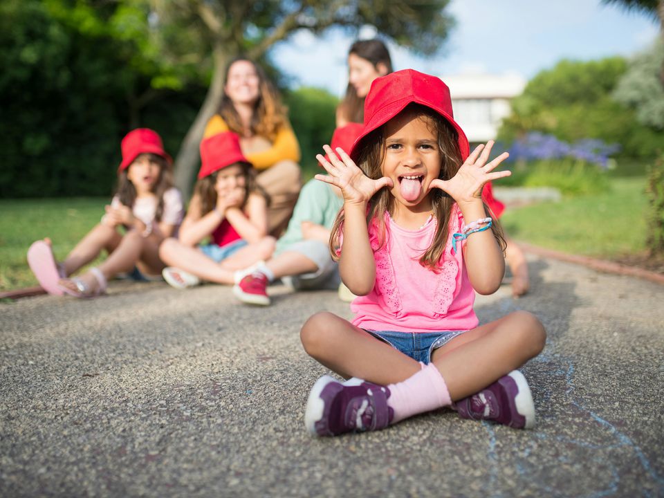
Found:
[[[179,239],[165,240],[159,250],[171,265],[163,270],[166,282],[176,288],[198,285],[201,279],[234,284],[239,270],[272,255],[275,239],[267,235],[267,209],[268,197],[256,183],[238,136],[225,131],[205,138],[199,180]]]

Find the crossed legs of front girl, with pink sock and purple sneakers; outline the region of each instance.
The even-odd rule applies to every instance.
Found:
[[[458,335],[434,351],[428,366],[331,313],[311,317],[301,335],[306,351],[323,365],[344,377],[367,380],[353,382],[360,383],[357,387],[339,387],[331,378],[317,382],[306,417],[309,430],[317,434],[378,429],[453,402],[464,418],[488,418],[513,427],[534,421],[528,385],[513,372],[544,347],[544,327],[531,313],[517,311]],[[326,397],[335,403],[327,403]],[[365,402],[371,405],[368,414]],[[358,409],[365,406],[362,416],[353,403]],[[530,406],[524,408],[524,403]],[[342,406],[343,413],[329,412],[331,406]],[[380,416],[381,407],[389,409],[389,415]]]

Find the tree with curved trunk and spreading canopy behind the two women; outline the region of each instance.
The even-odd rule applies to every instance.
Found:
[[[219,107],[223,71],[228,61],[244,54],[266,55],[276,42],[297,30],[323,33],[333,26],[357,29],[376,26],[381,35],[421,53],[434,53],[452,27],[445,13],[449,0],[188,0],[155,2],[157,33],[188,33],[196,44],[207,44],[212,77],[208,95],[176,158],[176,182],[189,192],[199,159],[205,123]],[[166,50],[174,47],[163,45]],[[181,54],[178,55],[181,57]]]

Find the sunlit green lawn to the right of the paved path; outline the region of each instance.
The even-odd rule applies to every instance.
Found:
[[[611,189],[507,209],[501,221],[508,235],[578,255],[618,258],[645,250],[645,177],[611,178]]]

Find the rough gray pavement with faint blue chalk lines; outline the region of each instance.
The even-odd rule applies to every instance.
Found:
[[[523,369],[535,430],[449,410],[315,439],[299,344],[331,291],[112,282],[79,301],[0,304],[0,497],[664,496],[664,286],[529,259],[532,291],[480,297],[482,321],[536,313]]]

